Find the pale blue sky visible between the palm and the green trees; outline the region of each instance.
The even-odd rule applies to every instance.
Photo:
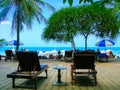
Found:
[[[55,7],[56,11],[63,7],[69,6],[68,3],[63,4],[63,0],[44,0],[50,5]],[[77,6],[79,0],[74,0],[73,5]],[[43,9],[43,15],[49,19],[52,12],[49,9]],[[16,40],[16,33],[11,34],[11,15],[8,17],[8,21],[0,22],[0,39],[4,38],[7,41]],[[20,41],[24,43],[24,46],[28,47],[71,47],[71,43],[60,43],[56,41],[46,42],[41,38],[41,34],[45,28],[45,23],[38,24],[34,21],[32,29],[28,30],[24,27],[23,32],[20,33]],[[88,47],[95,47],[96,42],[102,40],[101,38],[90,35],[88,37]],[[113,47],[120,47],[119,37],[114,40],[115,45]],[[75,38],[76,47],[84,47],[84,37],[78,36]]]

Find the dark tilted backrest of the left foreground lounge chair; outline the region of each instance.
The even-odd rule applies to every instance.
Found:
[[[37,52],[33,51],[16,51],[16,55],[19,61],[20,71],[39,71],[40,62]]]

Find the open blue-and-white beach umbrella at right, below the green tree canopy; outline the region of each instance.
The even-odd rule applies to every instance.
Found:
[[[106,51],[106,47],[115,45],[115,42],[109,39],[104,39],[104,40],[97,42],[95,45],[99,47],[105,47],[105,51]]]

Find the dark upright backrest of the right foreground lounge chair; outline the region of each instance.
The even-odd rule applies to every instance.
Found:
[[[95,53],[82,51],[74,53],[74,66],[76,69],[94,69]]]

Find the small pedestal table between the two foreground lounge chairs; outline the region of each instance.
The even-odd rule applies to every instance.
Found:
[[[58,70],[58,80],[53,83],[53,85],[67,85],[67,83],[61,81],[61,70],[67,69],[65,66],[54,66],[53,69]]]

